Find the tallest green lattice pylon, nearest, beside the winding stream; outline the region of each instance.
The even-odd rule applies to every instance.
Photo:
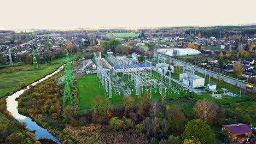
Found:
[[[64,88],[64,94],[63,94],[63,107],[65,106],[66,102],[69,100],[71,106],[73,106],[73,97],[72,97],[72,91],[74,89],[74,78],[72,75],[72,70],[71,70],[71,64],[70,64],[71,59],[68,56],[68,53],[66,54],[66,66],[65,66],[65,88]]]

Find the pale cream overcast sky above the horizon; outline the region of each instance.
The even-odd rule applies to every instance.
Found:
[[[1,0],[0,29],[214,26],[256,23],[256,0]]]

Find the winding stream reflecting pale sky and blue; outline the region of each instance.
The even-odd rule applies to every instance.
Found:
[[[32,83],[31,85],[35,86],[38,83],[48,79],[49,77],[55,75],[59,71],[63,69],[63,65],[55,70],[53,73],[46,75],[44,78]],[[26,123],[26,128],[30,131],[36,130],[36,133],[34,134],[37,139],[50,139],[53,140],[57,143],[61,143],[55,136],[53,136],[48,130],[44,129],[40,125],[38,125],[36,122],[32,121],[30,117],[26,117],[23,115],[20,115],[18,112],[18,101],[16,101],[16,98],[19,98],[22,93],[24,93],[27,89],[30,89],[29,86],[25,87],[24,89],[21,89],[18,92],[13,93],[12,95],[7,97],[7,110],[13,115],[15,119],[17,119],[19,122],[25,122]]]

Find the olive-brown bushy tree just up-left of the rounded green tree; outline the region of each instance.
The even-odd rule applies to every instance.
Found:
[[[167,118],[170,123],[170,129],[172,132],[181,132],[184,130],[185,121],[187,119],[184,113],[181,111],[178,105],[173,105],[171,107],[166,106]]]

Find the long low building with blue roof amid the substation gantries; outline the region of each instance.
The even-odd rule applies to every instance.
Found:
[[[150,70],[150,63],[137,63],[137,64],[124,64],[124,65],[114,65],[113,69],[115,73],[121,73],[124,71],[142,71]]]

